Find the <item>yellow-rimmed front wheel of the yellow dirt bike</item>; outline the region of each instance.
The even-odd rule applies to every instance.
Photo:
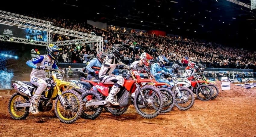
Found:
[[[55,113],[62,123],[74,123],[80,116],[83,108],[81,95],[74,90],[62,92],[64,106],[59,98],[55,101]]]

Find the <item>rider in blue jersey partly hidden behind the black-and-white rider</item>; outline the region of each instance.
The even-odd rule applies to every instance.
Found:
[[[104,51],[97,53],[96,58],[93,58],[86,67],[80,70],[79,80],[85,80],[87,70],[87,80],[99,80],[98,73],[101,68],[101,64],[108,54]]]

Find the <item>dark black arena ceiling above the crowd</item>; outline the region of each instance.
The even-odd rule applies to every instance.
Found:
[[[250,0],[239,2],[251,5]],[[45,0],[16,4],[22,5],[24,11],[49,16],[89,19],[140,30],[163,30],[234,46],[251,46],[256,36],[256,10],[227,0]],[[15,10],[10,8],[12,5],[2,6],[9,12]]]

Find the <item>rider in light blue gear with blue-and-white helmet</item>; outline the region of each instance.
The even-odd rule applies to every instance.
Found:
[[[172,72],[165,67],[166,62],[169,62],[164,55],[159,55],[157,58],[157,63],[154,63],[150,68],[150,73],[155,77],[155,80],[162,83],[170,82],[167,79],[161,79],[162,74],[167,74]]]

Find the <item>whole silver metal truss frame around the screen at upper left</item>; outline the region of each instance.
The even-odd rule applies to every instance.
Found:
[[[10,39],[12,40],[10,39],[8,40],[4,36],[1,36],[0,40],[3,40],[3,41],[18,42],[18,43],[25,43],[25,44],[32,44],[32,45],[45,45],[45,46],[48,45],[49,43],[53,43],[56,45],[70,45],[70,44],[97,42],[97,44],[99,45],[98,51],[101,51],[103,49],[103,37],[55,27],[55,26],[52,26],[52,22],[48,22],[45,20],[39,20],[31,17],[22,16],[19,14],[0,11],[0,23],[6,23],[6,24],[18,26],[18,27],[33,28],[36,30],[47,31],[47,38],[48,38],[47,42],[34,40],[32,43],[27,39],[10,37]],[[78,39],[52,42],[52,36],[53,36],[52,33],[62,34],[65,36],[72,36]]]

